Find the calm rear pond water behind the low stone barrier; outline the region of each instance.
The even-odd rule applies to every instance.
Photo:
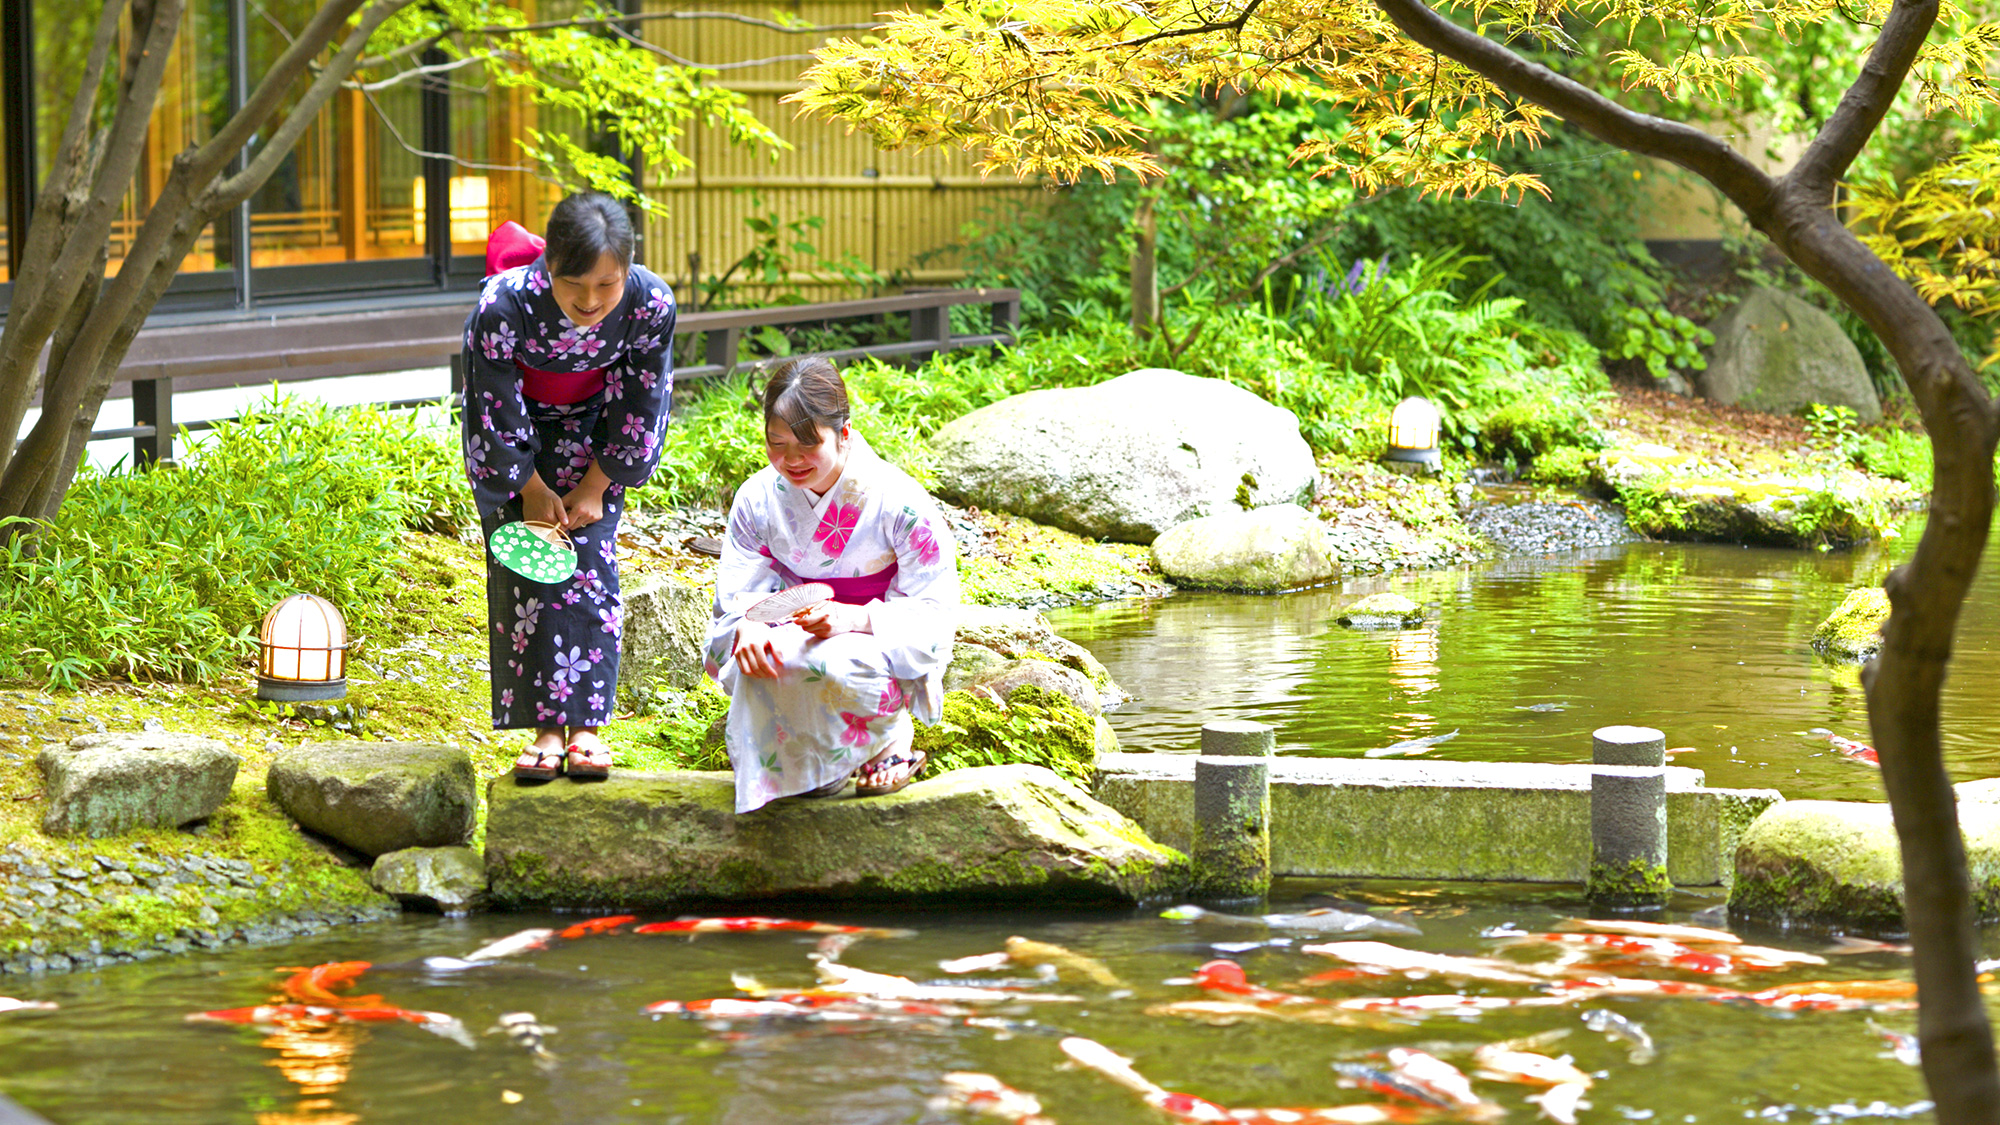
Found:
[[[1280,753],[1362,755],[1458,737],[1446,761],[1588,763],[1590,731],[1656,727],[1714,787],[1880,801],[1872,767],[1804,735],[1872,741],[1860,673],[1814,655],[1850,587],[1914,546],[1852,552],[1632,542],[1354,579],[1280,597],[1176,595],[1052,613],[1136,699],[1108,713],[1132,751],[1192,753],[1208,719],[1258,719]],[[2000,775],[2000,546],[1988,544],[1944,691],[1958,781]],[[1424,629],[1358,633],[1340,609],[1378,591],[1434,603]],[[1536,705],[1552,705],[1528,711]],[[1558,711],[1560,709],[1560,711]]]

